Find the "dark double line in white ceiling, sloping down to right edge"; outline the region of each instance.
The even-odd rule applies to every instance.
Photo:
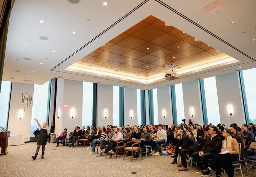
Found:
[[[213,37],[217,38],[218,40],[224,42],[226,45],[234,48],[236,51],[242,53],[242,55],[245,55],[246,57],[250,58],[253,61],[256,61],[254,58],[250,57],[249,55],[247,55],[246,53],[242,52],[241,50],[239,50],[238,48],[234,47],[233,45],[229,44],[228,42],[226,42],[225,40],[223,40],[222,38],[220,38],[219,36],[213,34],[212,32],[210,32],[209,30],[205,29],[204,27],[202,27],[201,25],[197,24],[196,22],[192,21],[190,18],[186,17],[185,15],[183,15],[182,13],[176,11],[174,8],[170,7],[169,5],[165,4],[164,2],[162,2],[161,0],[155,0],[156,2],[158,2],[159,4],[165,6],[166,8],[168,8],[169,10],[171,10],[172,12],[176,13],[177,15],[181,16],[182,18],[186,19],[187,21],[189,21],[190,23],[196,25],[198,28],[201,28],[202,30],[204,30],[205,32],[207,32],[208,34],[212,35]]]

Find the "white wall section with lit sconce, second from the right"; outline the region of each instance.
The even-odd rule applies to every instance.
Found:
[[[182,90],[186,124],[188,124],[188,119],[191,119],[193,124],[203,125],[201,93],[198,81],[183,83]],[[191,116],[191,107],[194,109],[193,116]]]

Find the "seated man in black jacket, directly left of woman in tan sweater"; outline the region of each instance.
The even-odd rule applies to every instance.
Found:
[[[222,141],[217,135],[218,128],[211,126],[209,129],[210,137],[207,138],[206,144],[201,151],[192,154],[192,158],[197,162],[198,170],[196,173],[202,173],[201,170],[206,170],[208,167],[207,160],[213,158],[221,149]],[[202,161],[201,161],[202,160]]]

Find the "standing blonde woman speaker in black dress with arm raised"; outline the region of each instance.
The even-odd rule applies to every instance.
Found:
[[[48,122],[43,122],[43,126],[41,126],[36,118],[34,118],[34,120],[37,121],[37,125],[41,129],[40,129],[39,137],[38,137],[38,140],[37,140],[36,154],[34,156],[31,156],[31,158],[33,160],[36,160],[38,152],[39,152],[39,149],[40,149],[40,147],[42,145],[42,157],[41,157],[41,159],[44,159],[44,148],[45,148],[45,145],[47,143],[47,135],[49,133],[49,127],[47,127]]]

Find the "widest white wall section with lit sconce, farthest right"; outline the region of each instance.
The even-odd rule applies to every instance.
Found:
[[[228,127],[232,123],[245,124],[244,109],[238,73],[216,76],[220,122]],[[228,105],[233,107],[229,115]]]

